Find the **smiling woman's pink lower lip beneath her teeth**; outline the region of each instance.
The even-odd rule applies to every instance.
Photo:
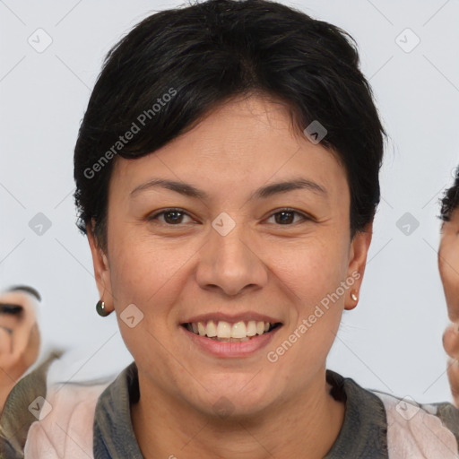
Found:
[[[180,325],[180,328],[186,333],[186,336],[191,339],[192,342],[195,342],[197,346],[201,347],[203,351],[209,352],[216,357],[238,358],[247,357],[263,349],[271,342],[274,334],[277,333],[281,326],[277,326],[269,333],[257,334],[254,338],[241,342],[216,341],[206,336],[189,332],[182,325]]]

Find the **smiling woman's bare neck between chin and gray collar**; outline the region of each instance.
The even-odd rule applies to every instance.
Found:
[[[321,459],[342,428],[345,404],[329,394],[325,368],[316,381],[263,414],[221,419],[149,390],[139,374],[141,398],[131,408],[135,436],[145,459],[214,459],[216,452],[219,459]]]

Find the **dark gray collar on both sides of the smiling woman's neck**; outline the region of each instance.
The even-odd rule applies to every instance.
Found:
[[[349,377],[327,369],[330,394],[346,400],[340,434],[324,459],[387,459],[387,423],[382,401]],[[94,420],[95,459],[143,459],[134,436],[130,404],[139,400],[137,367],[133,362],[100,395]]]

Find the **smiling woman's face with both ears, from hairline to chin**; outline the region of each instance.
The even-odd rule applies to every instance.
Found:
[[[369,231],[351,241],[349,213],[342,165],[257,97],[223,105],[141,159],[117,158],[107,253],[91,234],[90,243],[143,396],[247,415],[324,391],[370,241]],[[264,331],[258,322],[278,325],[247,338]],[[216,341],[193,327],[246,338]]]

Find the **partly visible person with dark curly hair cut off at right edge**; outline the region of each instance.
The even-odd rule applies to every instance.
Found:
[[[455,406],[459,408],[459,168],[455,173],[455,183],[443,196],[440,218],[443,224],[438,268],[452,322],[443,334],[443,346],[449,356],[447,375],[451,393]]]

